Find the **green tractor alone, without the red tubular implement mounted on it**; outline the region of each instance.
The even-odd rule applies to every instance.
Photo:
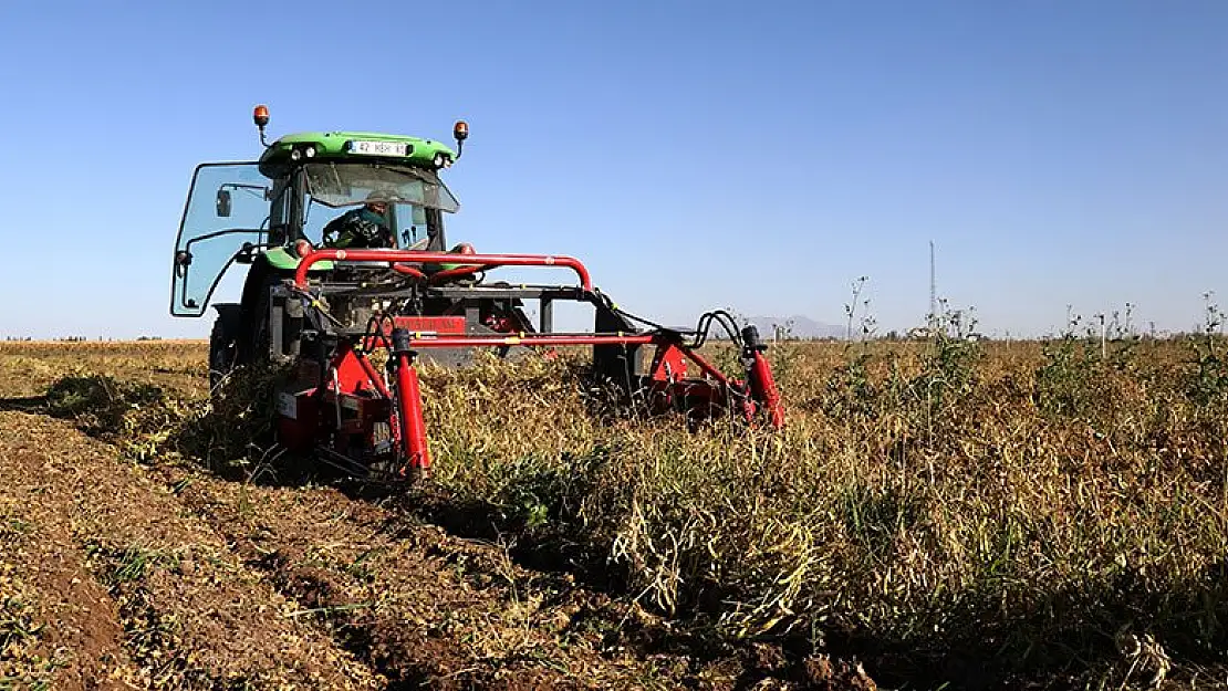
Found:
[[[176,317],[201,317],[231,265],[249,266],[239,302],[214,304],[214,384],[238,365],[295,356],[295,319],[301,314],[286,296],[279,299],[276,288],[293,276],[313,249],[355,247],[325,234],[346,211],[381,203],[381,249],[472,252],[467,244],[446,249],[445,214],[456,212],[459,203],[440,179],[440,171],[460,156],[468,136],[464,122],[453,129],[453,150],[427,139],[356,131],[300,133],[268,144],[268,109],[257,107],[253,119],[264,152],[254,162],[196,167],[176,242],[171,301]],[[427,270],[457,266],[437,263]],[[333,315],[352,326],[361,325],[378,307],[379,301],[371,296],[378,297],[382,281],[377,274],[387,274],[388,268],[387,261],[344,266],[322,261],[312,266],[312,275],[329,276],[336,288],[328,298]],[[472,275],[458,277],[451,286],[437,286],[442,291],[418,296],[421,315],[443,318],[420,323],[420,330],[535,330],[521,297],[507,291],[496,296],[464,290],[473,284]],[[545,312],[546,320],[537,326],[549,330],[549,308]],[[436,360],[454,363],[467,356],[453,351]]]

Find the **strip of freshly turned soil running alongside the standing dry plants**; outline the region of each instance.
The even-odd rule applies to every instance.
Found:
[[[720,669],[619,644],[604,598],[548,587],[495,545],[332,488],[242,486],[161,466],[179,498],[393,685],[728,689]],[[564,579],[565,581],[565,579]],[[558,585],[558,584],[555,584]]]

